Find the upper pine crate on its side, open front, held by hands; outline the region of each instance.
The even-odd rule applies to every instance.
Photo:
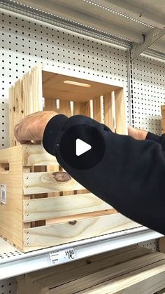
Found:
[[[122,86],[58,74],[37,65],[10,88],[9,98],[10,146],[17,145],[13,133],[17,121],[43,109],[90,116],[112,131],[126,133]]]

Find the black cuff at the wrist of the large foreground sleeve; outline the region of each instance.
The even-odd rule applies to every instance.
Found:
[[[57,137],[67,120],[67,116],[58,114],[53,116],[45,126],[43,133],[43,147],[48,153],[54,156],[56,155],[55,144],[57,142]]]

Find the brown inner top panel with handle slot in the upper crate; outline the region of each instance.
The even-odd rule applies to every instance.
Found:
[[[89,81],[86,79],[78,79],[72,76],[64,76],[63,74],[54,74],[52,72],[42,71],[43,76],[43,97],[59,98],[61,100],[86,102],[93,97],[105,95],[111,91],[120,88],[117,86]],[[78,83],[89,84],[90,87],[75,86],[64,81],[76,81]]]

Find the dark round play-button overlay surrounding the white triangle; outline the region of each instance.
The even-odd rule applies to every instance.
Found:
[[[76,155],[76,140],[80,139],[91,145],[87,152]],[[79,170],[89,169],[101,161],[105,152],[103,136],[94,126],[80,124],[72,126],[62,136],[59,150],[63,160],[72,168]]]

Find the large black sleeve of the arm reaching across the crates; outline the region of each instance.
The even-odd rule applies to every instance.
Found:
[[[83,133],[85,142],[94,134],[94,131],[93,134],[88,133],[89,126],[102,135],[105,152],[96,166],[73,168],[64,160],[60,144],[67,130],[73,126],[76,126],[75,137]],[[59,114],[45,128],[43,147],[55,155],[59,164],[90,192],[131,220],[165,234],[165,158],[160,144],[117,135],[86,116],[68,119]]]

